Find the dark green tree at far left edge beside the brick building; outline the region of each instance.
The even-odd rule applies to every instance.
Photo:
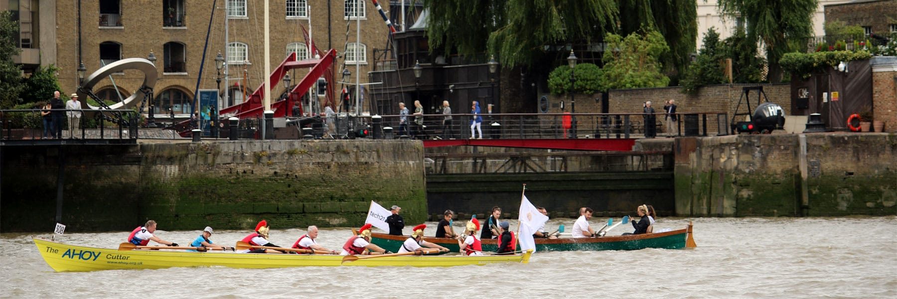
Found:
[[[22,90],[22,70],[13,63],[13,56],[19,55],[19,43],[15,35],[19,22],[13,21],[13,14],[0,11],[0,109],[13,107]]]

